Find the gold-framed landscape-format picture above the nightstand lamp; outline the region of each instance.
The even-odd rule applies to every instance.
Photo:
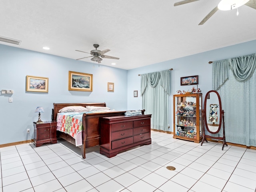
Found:
[[[26,91],[48,92],[48,78],[27,75]]]

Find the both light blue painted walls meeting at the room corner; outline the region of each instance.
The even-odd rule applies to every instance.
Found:
[[[204,97],[212,90],[209,61],[252,53],[256,53],[256,40],[127,71],[0,44],[0,90],[14,90],[14,94],[0,94],[0,144],[33,138],[32,122],[38,118],[34,112],[37,106],[44,107],[42,120],[51,119],[54,102],[106,102],[115,110],[141,109],[138,74],[170,68],[173,68],[169,106],[170,131],[173,131],[172,95],[177,90],[192,89],[192,86],[180,86],[180,77],[198,75],[198,87]],[[68,91],[68,71],[93,74],[93,91]],[[48,77],[49,92],[26,92],[27,75]],[[114,82],[114,92],[107,92],[107,82]],[[138,97],[133,97],[134,90],[138,90]],[[13,98],[12,103],[8,102],[9,97]],[[31,136],[26,134],[27,128]]]

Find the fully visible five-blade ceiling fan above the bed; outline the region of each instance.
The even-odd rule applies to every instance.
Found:
[[[80,60],[80,59],[92,57],[92,58],[91,58],[92,61],[96,61],[96,62],[100,63],[100,61],[102,61],[102,58],[107,58],[107,59],[119,59],[119,58],[117,58],[117,57],[112,57],[112,56],[104,55],[106,52],[109,52],[110,49],[105,49],[105,50],[103,50],[103,51],[100,51],[100,50],[97,50],[97,48],[99,47],[98,44],[94,44],[93,46],[94,46],[95,50],[91,50],[90,53],[84,52],[84,51],[80,51],[80,50],[76,50],[76,51],[80,51],[80,52],[88,53],[88,54],[91,54],[91,55],[92,55],[92,56],[88,56],[88,57],[79,58],[79,59],[76,59],[76,60]]]

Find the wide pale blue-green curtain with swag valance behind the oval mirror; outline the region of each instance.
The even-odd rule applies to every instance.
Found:
[[[218,90],[226,141],[256,146],[256,54],[213,62],[213,88]]]

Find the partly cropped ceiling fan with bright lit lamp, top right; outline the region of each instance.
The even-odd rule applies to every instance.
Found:
[[[180,2],[174,3],[174,6],[183,5],[183,4],[191,3],[194,1],[199,1],[199,0],[183,0]],[[221,0],[218,6],[216,6],[210,13],[208,13],[208,15],[206,15],[206,17],[198,25],[204,24],[218,10],[232,10],[244,4],[253,9],[256,9],[256,0]]]

